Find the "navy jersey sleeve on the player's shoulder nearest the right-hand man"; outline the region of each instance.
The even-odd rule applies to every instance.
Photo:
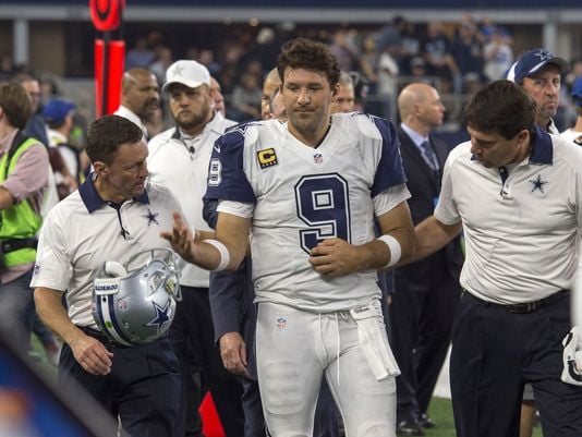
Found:
[[[374,197],[391,186],[405,183],[407,177],[395,126],[385,119],[377,117],[371,117],[371,119],[381,136],[380,159],[372,185],[372,197]]]

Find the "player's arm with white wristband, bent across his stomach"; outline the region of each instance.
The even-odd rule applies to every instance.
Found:
[[[324,240],[312,250],[310,263],[326,276],[344,276],[354,271],[383,269],[392,259],[405,259],[414,253],[414,228],[405,202],[377,217],[384,235],[396,240],[400,254],[392,253],[384,240],[354,245],[341,239]]]

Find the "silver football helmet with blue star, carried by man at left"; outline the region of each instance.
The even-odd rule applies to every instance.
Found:
[[[93,317],[114,342],[150,343],[166,333],[180,300],[180,260],[167,248],[106,262],[93,287]]]

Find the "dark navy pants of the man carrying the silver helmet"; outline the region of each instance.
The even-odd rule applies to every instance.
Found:
[[[106,344],[106,342],[104,342]],[[111,373],[90,375],[81,367],[68,344],[61,351],[59,384],[87,390],[106,411],[121,420],[133,437],[172,437],[178,416],[180,373],[167,338],[131,348],[106,344],[113,353]]]

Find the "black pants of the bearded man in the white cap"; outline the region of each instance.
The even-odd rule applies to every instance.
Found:
[[[190,341],[202,366],[204,385],[213,393],[213,400],[227,437],[241,437],[244,435],[242,386],[237,377],[222,365],[220,351],[214,337],[208,289],[182,287],[182,301],[178,302],[170,328],[172,348],[181,365],[187,365],[185,350]],[[185,401],[190,402],[190,398],[185,394],[185,387],[182,389]],[[185,434],[185,416],[186,404],[181,402],[180,417],[175,428],[177,437]]]

